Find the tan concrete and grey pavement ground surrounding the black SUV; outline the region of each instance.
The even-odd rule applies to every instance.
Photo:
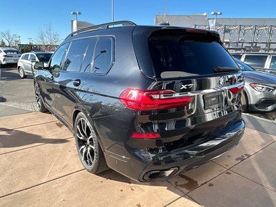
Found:
[[[32,79],[0,80],[0,206],[276,206],[276,122],[244,115],[237,147],[167,181],[83,169],[72,133],[35,112]],[[276,118],[276,117],[275,117]]]

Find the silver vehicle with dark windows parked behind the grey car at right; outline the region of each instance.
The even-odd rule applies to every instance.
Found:
[[[233,57],[243,61],[252,68],[276,75],[276,54],[268,52],[233,53]]]

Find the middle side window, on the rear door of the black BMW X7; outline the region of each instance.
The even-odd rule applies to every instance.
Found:
[[[89,39],[72,41],[62,70],[79,72],[88,43]]]

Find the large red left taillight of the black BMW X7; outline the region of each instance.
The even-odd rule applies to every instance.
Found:
[[[179,96],[173,90],[139,90],[128,88],[119,99],[134,110],[159,110],[187,106],[193,96]]]

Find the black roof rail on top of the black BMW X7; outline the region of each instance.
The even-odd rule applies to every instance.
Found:
[[[72,32],[71,34],[69,34],[66,39],[68,37],[72,37],[76,34],[81,34],[83,32],[88,32],[88,31],[93,31],[93,30],[103,30],[106,28],[115,28],[115,27],[119,27],[119,26],[136,26],[136,23],[133,23],[132,21],[114,21],[114,22],[110,22],[110,23],[103,23],[103,24],[99,24],[99,25],[95,25],[95,26],[91,26],[88,28],[84,28],[81,30],[77,30],[76,32]]]

